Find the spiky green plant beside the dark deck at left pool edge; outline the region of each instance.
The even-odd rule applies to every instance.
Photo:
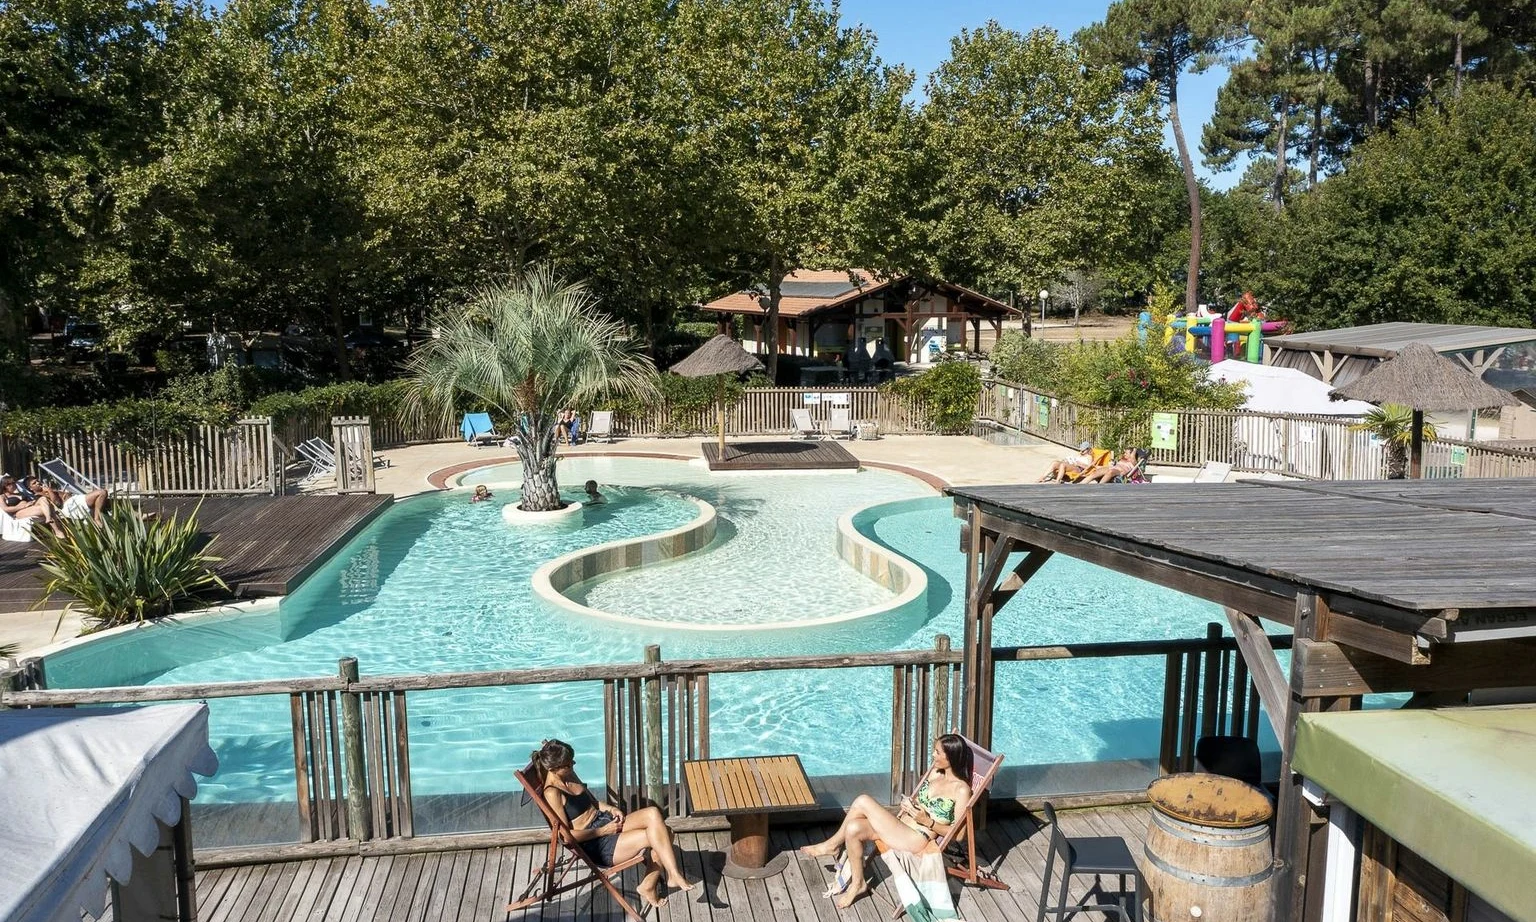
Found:
[[[92,628],[161,618],[195,607],[200,596],[229,587],[210,569],[198,533],[197,512],[183,518],[144,519],[127,502],[115,502],[103,522],[66,521],[63,536],[32,532],[43,549],[45,596],[69,595]]]

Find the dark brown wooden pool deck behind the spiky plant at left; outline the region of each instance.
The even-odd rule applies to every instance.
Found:
[[[390,495],[163,496],[137,501],[161,516],[197,509],[203,532],[223,558],[214,569],[235,596],[287,595],[326,558],[384,512]],[[198,504],[201,502],[201,507]],[[37,544],[0,542],[0,607],[43,598]]]

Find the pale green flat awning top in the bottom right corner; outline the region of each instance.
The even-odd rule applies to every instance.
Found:
[[[1536,707],[1303,715],[1296,771],[1519,922],[1536,922]]]

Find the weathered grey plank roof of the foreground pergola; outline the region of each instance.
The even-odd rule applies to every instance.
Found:
[[[1536,479],[954,487],[1046,550],[1290,621],[1299,593],[1436,639],[1536,635]],[[1111,559],[1114,558],[1114,559]]]

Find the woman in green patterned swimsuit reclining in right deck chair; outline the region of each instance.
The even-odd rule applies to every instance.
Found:
[[[837,897],[837,908],[846,910],[869,893],[863,874],[865,844],[880,839],[897,851],[922,854],[938,848],[937,842],[955,822],[960,804],[971,799],[971,747],[958,733],[945,733],[934,741],[934,770],[912,798],[902,798],[895,813],[882,807],[869,794],[859,794],[848,807],[843,825],[825,842],[808,845],[811,857],[833,857],[839,850],[848,854],[848,887]]]

